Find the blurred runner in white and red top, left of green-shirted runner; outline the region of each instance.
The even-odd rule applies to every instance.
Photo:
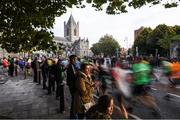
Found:
[[[128,112],[124,105],[124,98],[131,97],[130,83],[132,81],[131,71],[120,68],[112,68],[111,75],[114,79],[113,94],[119,102],[122,118],[128,119]]]

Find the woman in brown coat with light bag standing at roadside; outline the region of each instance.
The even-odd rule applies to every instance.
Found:
[[[95,84],[91,79],[91,66],[90,64],[83,63],[81,65],[81,70],[78,72],[77,81],[75,83],[77,91],[74,95],[74,112],[77,114],[78,119],[84,119],[85,113],[89,107],[94,104],[93,91]]]

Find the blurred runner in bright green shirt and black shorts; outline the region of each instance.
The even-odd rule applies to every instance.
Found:
[[[145,106],[150,108],[153,111],[153,114],[160,115],[160,109],[157,106],[155,99],[153,96],[148,94],[147,88],[149,88],[150,73],[151,67],[147,63],[141,62],[140,58],[136,58],[135,64],[132,66],[132,70],[134,73],[134,81],[133,81],[133,99],[135,101],[140,101]]]

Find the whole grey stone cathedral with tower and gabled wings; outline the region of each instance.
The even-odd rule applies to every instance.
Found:
[[[64,54],[69,56],[75,54],[78,57],[89,56],[89,40],[79,36],[79,22],[75,22],[72,14],[68,22],[64,21],[64,37],[54,38],[56,44],[64,46]]]

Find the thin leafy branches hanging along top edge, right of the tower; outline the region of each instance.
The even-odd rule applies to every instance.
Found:
[[[141,8],[144,5],[157,5],[161,4],[165,8],[177,7],[179,1],[171,0],[163,2],[162,0],[86,0],[87,3],[92,4],[92,7],[95,7],[96,10],[102,10],[103,5],[107,4],[106,13],[108,14],[120,14],[126,13],[128,7]]]

